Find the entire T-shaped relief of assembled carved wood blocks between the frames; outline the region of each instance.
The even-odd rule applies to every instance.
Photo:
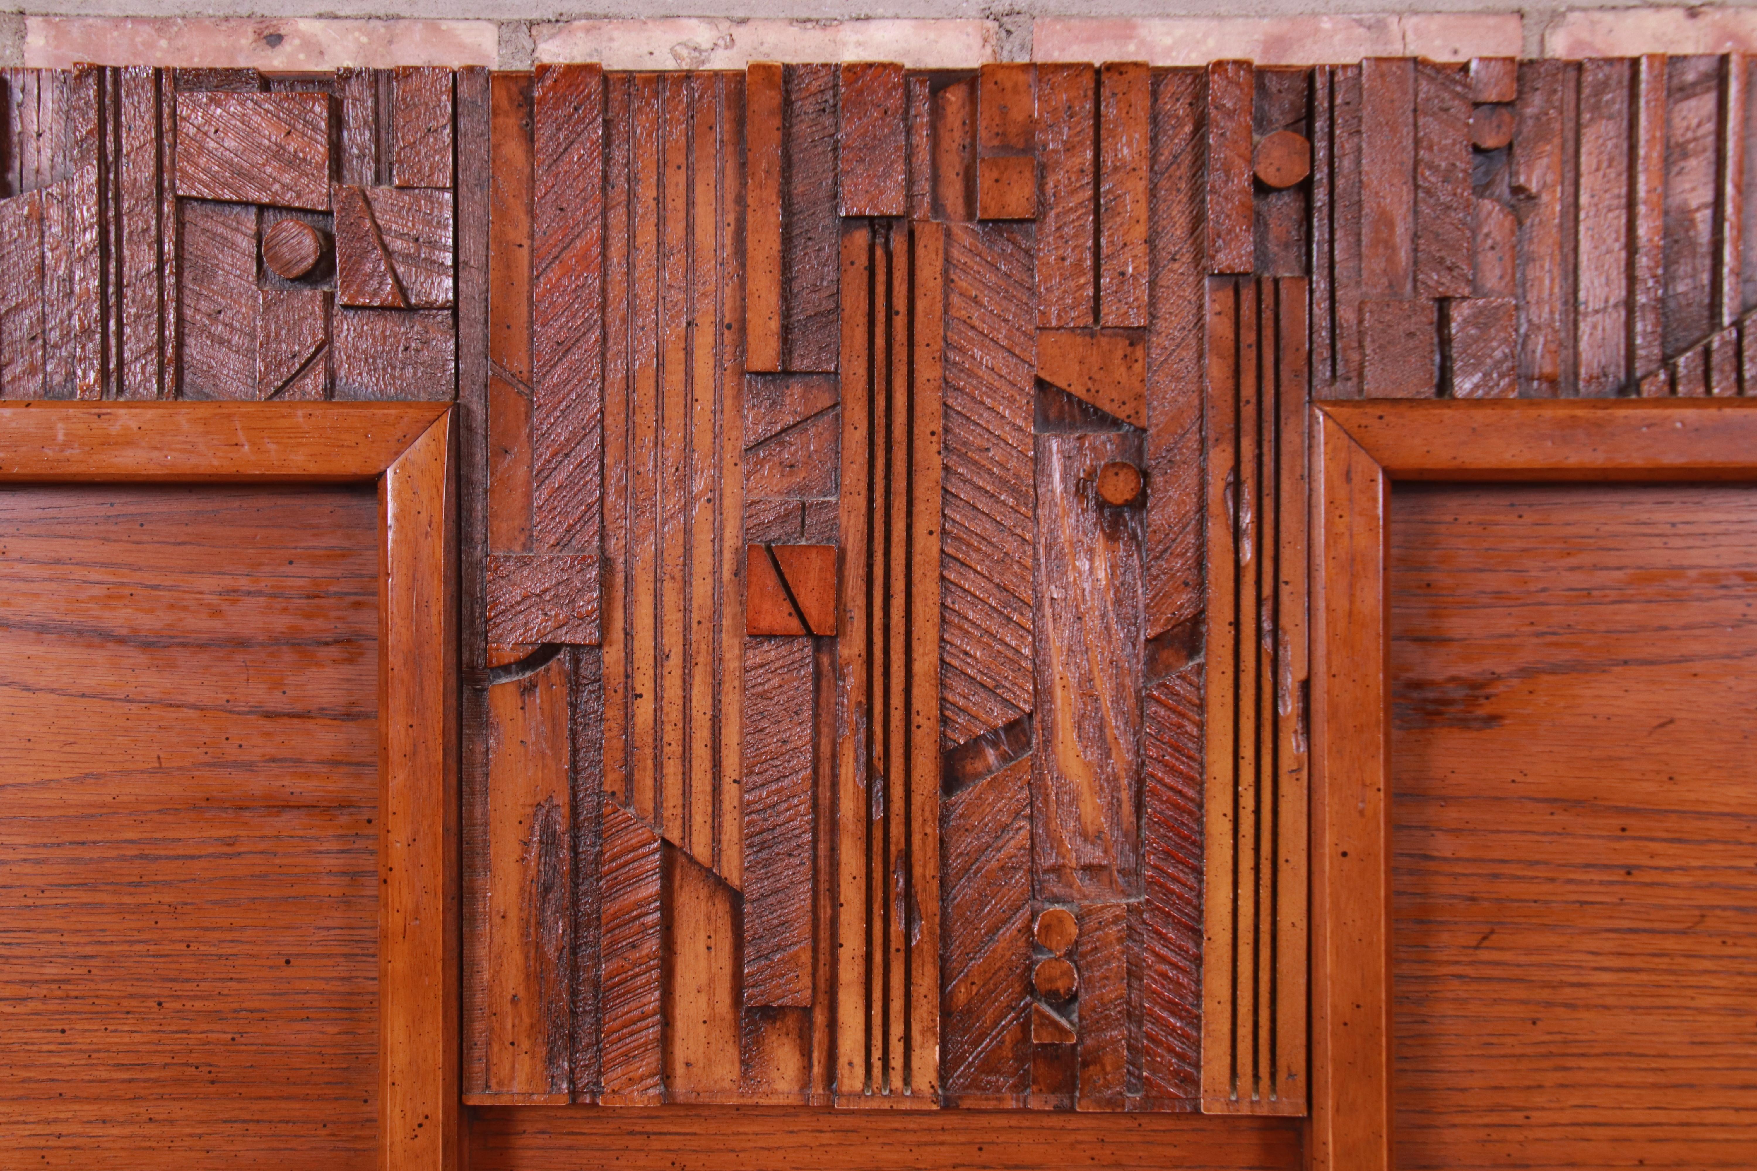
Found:
[[[471,1106],[1304,1115],[1312,402],[1757,370],[1738,54],[4,84],[0,397],[459,404]]]

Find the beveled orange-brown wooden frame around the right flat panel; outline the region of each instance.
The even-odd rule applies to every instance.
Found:
[[[1757,481],[1757,400],[1328,402],[1312,474],[1307,1166],[1390,1171],[1392,481]]]

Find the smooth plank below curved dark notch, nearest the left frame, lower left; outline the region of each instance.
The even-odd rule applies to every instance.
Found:
[[[492,606],[492,602],[490,602]],[[490,636],[492,637],[492,636]],[[527,639],[538,641],[538,639]],[[485,1085],[569,1099],[573,811],[569,662],[552,657],[487,695]]]

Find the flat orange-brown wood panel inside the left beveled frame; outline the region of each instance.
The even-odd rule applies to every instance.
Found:
[[[0,492],[0,1164],[378,1166],[378,499]]]

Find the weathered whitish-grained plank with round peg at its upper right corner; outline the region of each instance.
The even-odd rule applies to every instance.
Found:
[[[1140,890],[1140,514],[1098,471],[1140,460],[1139,434],[1037,437],[1033,892],[1121,902]]]

